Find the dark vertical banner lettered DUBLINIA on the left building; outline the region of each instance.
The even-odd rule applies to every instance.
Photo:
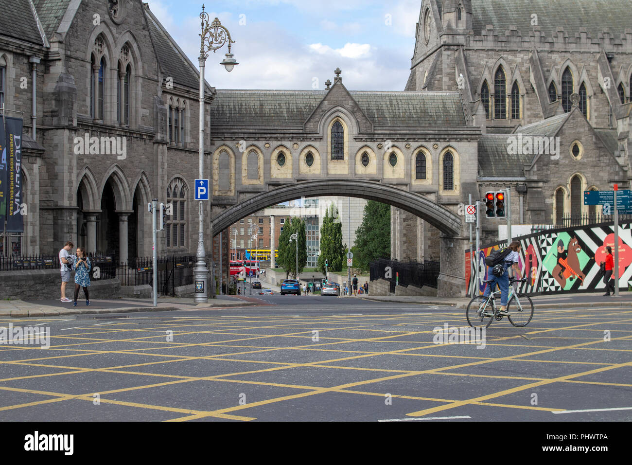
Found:
[[[6,118],[6,230],[24,232],[22,204],[22,118]]]

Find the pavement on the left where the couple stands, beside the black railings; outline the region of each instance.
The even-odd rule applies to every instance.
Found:
[[[212,310],[224,307],[245,307],[257,305],[253,299],[235,295],[218,295],[209,299],[208,304],[196,304],[193,298],[163,297],[158,299],[154,307],[152,299],[109,299],[90,301],[78,300],[77,306],[72,302],[60,302],[58,299],[45,301],[0,301],[0,317],[26,318],[29,316],[66,316],[76,314],[130,313],[173,310]]]

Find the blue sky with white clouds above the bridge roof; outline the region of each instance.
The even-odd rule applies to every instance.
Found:
[[[145,0],[197,67],[204,0]],[[206,1],[228,28],[231,73],[210,53],[205,78],[217,89],[324,89],[334,70],[349,90],[404,90],[421,0]]]

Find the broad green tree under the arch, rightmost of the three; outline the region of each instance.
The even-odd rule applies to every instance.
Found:
[[[391,206],[367,202],[353,248],[353,264],[362,271],[368,271],[371,261],[391,256]]]

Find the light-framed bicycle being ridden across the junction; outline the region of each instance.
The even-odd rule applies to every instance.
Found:
[[[492,280],[485,280],[484,282],[489,284],[491,281]],[[507,319],[509,319],[509,323],[512,325],[521,328],[528,325],[533,318],[533,302],[526,294],[516,294],[513,286],[513,283],[515,282],[524,283],[526,282],[526,278],[521,280],[509,278],[509,301],[507,301],[507,312],[510,314],[507,316]],[[495,295],[500,293],[501,291],[497,290],[490,292],[487,297],[484,295],[477,295],[471,299],[465,311],[465,316],[470,326],[473,328],[482,328],[484,326],[487,328],[492,324],[494,319],[496,321],[501,321],[504,315],[498,314],[500,307],[497,307],[495,302]],[[513,313],[510,310],[512,304],[516,307],[516,310]],[[488,308],[489,306],[491,307]]]

